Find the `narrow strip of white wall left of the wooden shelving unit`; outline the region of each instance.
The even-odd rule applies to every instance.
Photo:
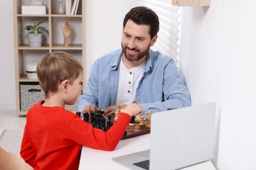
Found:
[[[14,31],[12,1],[0,1],[0,109],[15,109]]]

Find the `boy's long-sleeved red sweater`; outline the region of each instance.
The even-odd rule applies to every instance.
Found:
[[[34,169],[78,169],[82,146],[114,150],[131,116],[121,113],[106,132],[61,107],[35,104],[26,116],[20,155]],[[89,154],[89,153],[88,153]]]

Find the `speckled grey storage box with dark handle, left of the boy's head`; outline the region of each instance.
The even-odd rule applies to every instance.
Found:
[[[20,83],[20,111],[28,111],[35,103],[45,98],[39,82]]]

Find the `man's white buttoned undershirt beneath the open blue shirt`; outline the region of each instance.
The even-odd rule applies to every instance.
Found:
[[[121,59],[119,64],[120,72],[116,105],[135,102],[136,89],[140,79],[142,78],[145,65],[146,61],[137,67],[127,69],[123,63],[123,60]]]

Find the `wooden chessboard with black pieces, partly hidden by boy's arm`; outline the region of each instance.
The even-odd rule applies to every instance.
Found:
[[[111,126],[114,124],[114,114],[108,115],[108,116],[103,116],[104,112],[99,111],[99,112],[91,112],[89,113],[84,113],[81,114],[81,112],[76,112],[76,114],[83,119],[85,122],[88,122],[91,124],[93,127],[97,129],[102,129],[103,131],[108,131]],[[145,126],[139,126],[139,122],[134,122],[134,126],[127,126],[127,129],[125,133],[123,134],[123,137],[121,140],[124,139],[129,139],[131,137],[137,137],[140,135],[145,135],[150,133],[150,127],[145,127]]]

